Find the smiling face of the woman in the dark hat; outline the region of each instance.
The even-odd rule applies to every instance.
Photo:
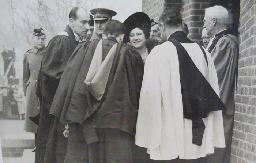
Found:
[[[145,34],[144,34],[143,30],[141,30],[139,28],[135,28],[135,29],[131,30],[131,32],[129,34],[129,39],[130,39],[131,45],[135,49],[142,49],[146,44]]]

